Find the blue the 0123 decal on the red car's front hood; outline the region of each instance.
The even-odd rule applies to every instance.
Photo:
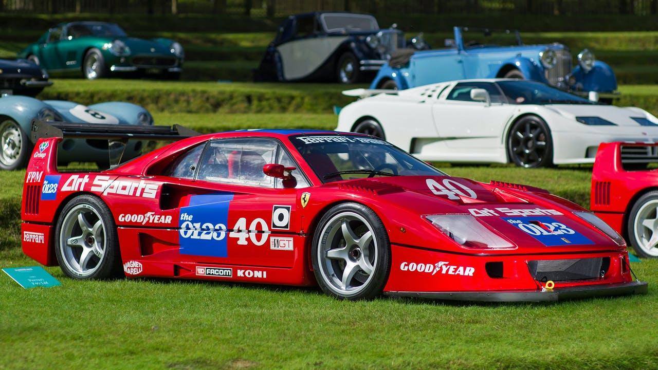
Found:
[[[532,236],[545,246],[594,244],[592,240],[551,217],[503,217],[503,220]]]

